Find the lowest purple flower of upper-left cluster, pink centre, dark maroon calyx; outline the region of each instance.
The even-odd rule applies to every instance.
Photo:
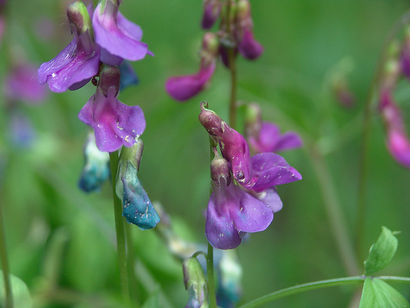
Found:
[[[95,94],[78,113],[78,118],[94,129],[100,151],[113,152],[122,145],[130,147],[145,130],[141,108],[117,100],[119,79],[119,69],[106,65]]]

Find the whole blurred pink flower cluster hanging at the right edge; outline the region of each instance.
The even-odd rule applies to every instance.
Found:
[[[379,94],[379,111],[384,121],[387,148],[398,163],[410,168],[410,139],[402,112],[394,100],[394,89],[400,76],[410,78],[410,28],[401,50],[395,43],[391,46]]]

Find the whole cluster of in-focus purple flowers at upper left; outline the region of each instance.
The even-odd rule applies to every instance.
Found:
[[[141,28],[118,11],[120,3],[102,0],[95,10],[86,8],[81,1],[71,4],[67,16],[73,41],[38,69],[40,84],[47,83],[54,92],[76,90],[91,79],[98,84],[78,118],[94,129],[98,149],[107,152],[122,145],[132,146],[145,129],[142,110],[117,100],[121,82],[117,66],[124,60],[137,61],[153,55],[148,45],[141,42]],[[136,76],[129,73],[126,65],[122,66],[126,72],[122,75],[127,80],[122,84],[136,83]]]

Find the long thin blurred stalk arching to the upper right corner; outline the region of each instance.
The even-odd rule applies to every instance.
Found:
[[[363,118],[363,133],[362,142],[360,149],[360,160],[359,160],[359,183],[358,183],[358,196],[357,196],[357,215],[356,215],[356,251],[360,259],[363,259],[361,255],[363,238],[364,238],[364,225],[366,216],[366,182],[367,182],[367,161],[368,161],[368,144],[372,132],[372,102],[374,97],[374,92],[379,84],[381,74],[383,72],[382,68],[386,61],[387,49],[397,36],[398,32],[403,28],[405,24],[410,21],[410,11],[403,14],[400,20],[393,26],[392,30],[386,37],[384,41],[383,48],[381,51],[380,59],[378,65],[373,75],[372,82],[367,94],[366,105],[364,109]]]

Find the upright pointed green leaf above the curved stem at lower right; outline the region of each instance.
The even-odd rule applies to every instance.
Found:
[[[397,238],[391,230],[381,227],[381,234],[370,247],[366,261],[364,261],[364,275],[377,272],[386,266],[393,258],[397,249]]]

